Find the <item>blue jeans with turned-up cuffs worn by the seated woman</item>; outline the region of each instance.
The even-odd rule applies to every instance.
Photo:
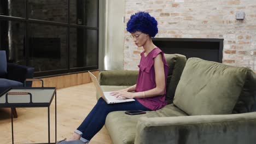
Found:
[[[75,130],[75,133],[81,135],[82,141],[89,142],[101,130],[109,112],[131,110],[151,111],[137,100],[128,103],[107,104],[100,98],[83,123]]]

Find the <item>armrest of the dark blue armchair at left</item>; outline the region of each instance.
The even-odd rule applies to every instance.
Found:
[[[7,64],[7,79],[24,83],[26,79],[32,79],[34,76],[34,68],[26,67],[14,63]],[[27,82],[27,86],[31,86],[32,82]]]

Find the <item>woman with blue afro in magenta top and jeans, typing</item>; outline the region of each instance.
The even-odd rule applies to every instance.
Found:
[[[155,37],[158,33],[158,22],[148,13],[138,12],[131,15],[126,29],[131,33],[131,38],[135,44],[144,48],[138,65],[139,74],[136,85],[110,94],[118,99],[133,98],[135,101],[107,104],[103,98],[98,99],[97,104],[74,131],[73,136],[59,143],[89,143],[92,137],[103,127],[109,112],[155,111],[167,104],[165,101],[165,87],[168,65],[164,53],[152,42],[152,37]]]

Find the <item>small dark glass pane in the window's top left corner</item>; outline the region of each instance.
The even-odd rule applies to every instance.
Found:
[[[25,0],[1,0],[0,15],[25,17]]]

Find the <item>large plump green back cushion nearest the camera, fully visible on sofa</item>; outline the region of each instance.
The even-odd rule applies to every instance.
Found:
[[[173,103],[188,115],[230,114],[245,84],[247,68],[189,58]]]

